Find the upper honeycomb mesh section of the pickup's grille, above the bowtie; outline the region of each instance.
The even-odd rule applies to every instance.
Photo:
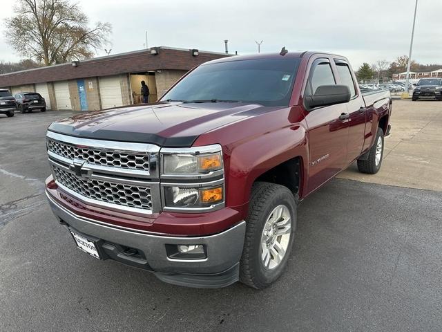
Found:
[[[85,160],[93,165],[121,167],[127,169],[149,169],[148,154],[134,154],[124,151],[107,151],[93,147],[79,147],[48,139],[48,150],[68,159]]]

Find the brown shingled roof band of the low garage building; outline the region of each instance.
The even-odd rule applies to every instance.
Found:
[[[75,80],[77,78],[101,77],[123,73],[142,73],[161,69],[189,71],[194,66],[204,62],[229,56],[225,53],[206,52],[203,50],[199,51],[197,56],[193,56],[191,50],[164,46],[156,48],[158,54],[152,55],[151,49],[86,59],[79,61],[77,66],[73,66],[72,63],[57,64],[55,66],[3,74],[0,75],[0,86]]]

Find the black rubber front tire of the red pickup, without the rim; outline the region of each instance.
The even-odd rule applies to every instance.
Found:
[[[280,263],[275,268],[268,269],[261,258],[261,237],[267,218],[278,205],[285,205],[289,211],[291,228],[287,234],[290,234],[290,237],[285,255]],[[254,183],[246,224],[244,249],[240,260],[240,282],[256,289],[262,289],[275,282],[287,265],[296,229],[294,195],[282,185],[267,182]]]

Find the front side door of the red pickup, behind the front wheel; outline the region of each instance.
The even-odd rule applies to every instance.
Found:
[[[328,58],[315,59],[311,64],[303,99],[314,94],[318,86],[336,84]],[[345,104],[306,109],[309,128],[309,184],[312,192],[340,172],[347,163],[347,121],[339,117],[347,113]]]

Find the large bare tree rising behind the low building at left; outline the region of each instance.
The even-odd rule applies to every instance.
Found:
[[[70,0],[18,0],[15,16],[6,19],[6,38],[20,55],[46,66],[93,57],[108,44],[111,24],[88,17]]]

